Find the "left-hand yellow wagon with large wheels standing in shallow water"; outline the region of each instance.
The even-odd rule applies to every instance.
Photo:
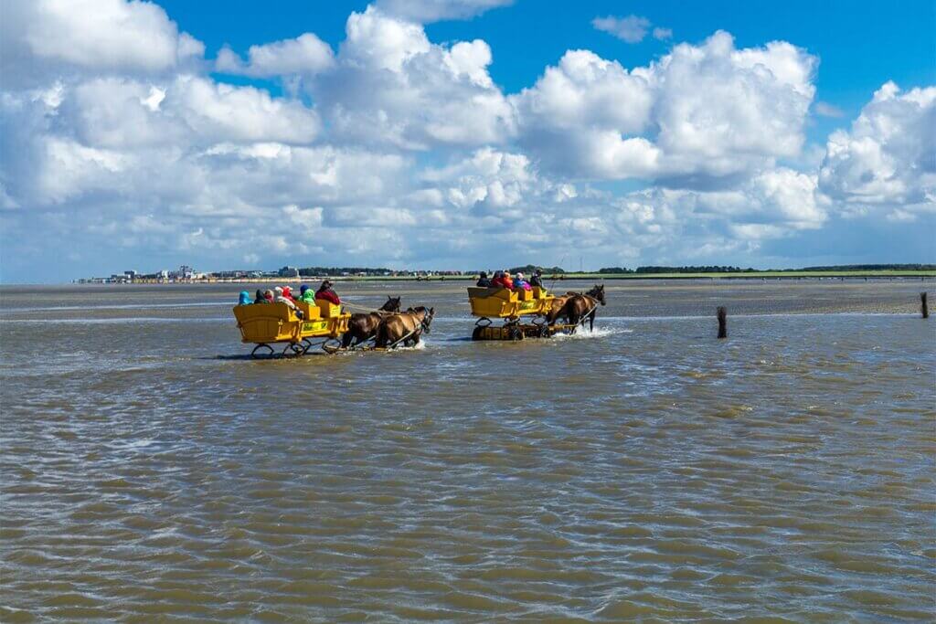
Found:
[[[348,330],[351,314],[323,299],[316,299],[314,305],[297,301],[296,308],[302,312],[302,318],[285,303],[234,307],[241,342],[256,344],[250,352],[252,357],[275,355],[272,344],[285,343],[283,356],[302,356],[316,345],[329,354],[341,348],[338,339]],[[313,342],[316,338],[323,340]],[[264,351],[268,353],[264,354]]]

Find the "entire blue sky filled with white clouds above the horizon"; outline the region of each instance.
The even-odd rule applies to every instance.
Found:
[[[898,262],[929,1],[0,3],[3,283]]]

